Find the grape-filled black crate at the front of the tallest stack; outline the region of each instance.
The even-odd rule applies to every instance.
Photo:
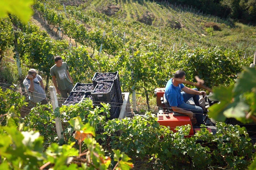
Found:
[[[100,105],[101,102],[109,103],[110,105],[118,103],[113,80],[98,81],[98,84],[91,94],[94,104],[96,105]]]

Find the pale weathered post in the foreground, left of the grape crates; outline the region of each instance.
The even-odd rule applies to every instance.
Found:
[[[52,101],[52,109],[55,110],[56,108],[59,107],[55,87],[50,86],[49,91],[50,91],[50,96],[51,96],[51,101]],[[55,126],[56,126],[56,130],[57,130],[58,139],[59,140],[64,139],[63,134],[61,134],[63,129],[62,129],[61,120],[59,117],[55,118]]]

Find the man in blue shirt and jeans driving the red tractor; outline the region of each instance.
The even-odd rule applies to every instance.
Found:
[[[178,70],[174,78],[185,80],[185,75],[184,71]],[[203,124],[203,109],[199,106],[199,95],[206,95],[204,91],[199,92],[196,88],[185,87],[182,82],[171,78],[166,84],[164,95],[174,112],[188,115],[190,119],[193,119],[195,113],[197,123]],[[186,104],[191,97],[196,106]]]

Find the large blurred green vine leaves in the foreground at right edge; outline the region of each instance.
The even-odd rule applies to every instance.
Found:
[[[214,88],[213,98],[220,103],[209,108],[209,116],[218,121],[225,121],[226,117],[243,121],[250,110],[255,114],[255,75],[255,68],[245,68],[235,85]]]

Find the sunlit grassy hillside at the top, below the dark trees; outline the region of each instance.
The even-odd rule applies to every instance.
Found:
[[[51,2],[52,0],[48,0],[49,4]],[[68,5],[70,2],[64,0],[61,4]],[[146,0],[89,0],[84,3],[77,1],[76,4],[83,4],[85,11],[95,10],[95,12],[105,14],[118,9],[118,12],[109,16],[109,18],[116,19],[119,22],[118,27],[123,27],[123,31],[132,28],[120,23],[139,23],[141,33],[143,33],[141,37],[145,37],[149,41],[157,39],[159,44],[162,43],[161,45],[165,45],[167,48],[172,48],[174,43],[175,49],[184,44],[188,44],[191,48],[197,45],[205,47],[218,45],[234,50],[243,50],[247,57],[252,57],[256,48],[255,27],[233,23],[230,19],[223,20],[215,16],[204,15],[204,13],[201,13],[202,11],[198,11],[198,9],[191,6],[176,4],[175,7],[175,4],[169,3],[168,5],[164,1],[152,2]],[[95,20],[94,18],[91,19]],[[98,19],[97,22],[100,27],[104,26],[104,24],[100,24],[101,21]],[[149,26],[145,27],[144,23]],[[215,25],[220,30],[209,31],[207,25]],[[90,25],[90,27],[95,28],[93,25]],[[173,33],[170,31],[172,28],[177,30]],[[134,30],[134,32],[140,34],[138,31]],[[128,31],[126,31],[126,36],[130,36]]]

